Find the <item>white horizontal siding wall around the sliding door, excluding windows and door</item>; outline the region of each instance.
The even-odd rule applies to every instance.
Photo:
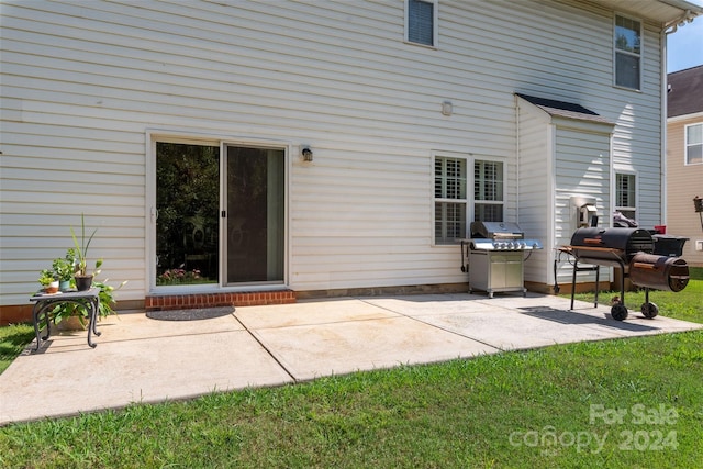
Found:
[[[641,92],[614,88],[613,12],[589,2],[442,0],[436,48],[403,42],[402,1],[0,8],[0,305],[26,303],[81,213],[103,276],[129,280],[119,298],[149,293],[152,133],[287,148],[297,291],[466,282],[459,247],[433,244],[432,158],[505,161],[505,219],[522,221],[515,92],[616,122],[639,222],[661,219],[659,27],[645,23]]]

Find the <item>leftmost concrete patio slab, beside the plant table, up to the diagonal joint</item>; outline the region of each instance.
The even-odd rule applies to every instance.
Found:
[[[94,349],[86,333],[32,346],[0,375],[0,424],[292,381],[234,317],[210,321],[123,314],[101,323]]]

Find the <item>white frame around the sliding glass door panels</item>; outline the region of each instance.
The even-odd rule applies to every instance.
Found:
[[[227,286],[226,279],[222,278],[222,264],[220,264],[220,275],[217,283],[188,284],[188,286],[156,286],[156,143],[168,142],[189,145],[210,145],[220,147],[220,211],[226,210],[226,199],[224,191],[226,185],[223,183],[224,171],[222,157],[225,146],[250,146],[258,148],[281,149],[284,158],[283,175],[283,197],[284,197],[284,226],[283,226],[283,281],[271,283],[243,283],[241,286]],[[290,282],[290,177],[292,170],[292,144],[289,141],[275,138],[243,138],[232,135],[204,134],[187,131],[161,131],[147,130],[145,139],[145,287],[146,294],[188,294],[188,293],[215,293],[215,292],[236,292],[236,291],[267,291],[288,288]],[[220,219],[222,221],[222,217]],[[217,255],[220,263],[223,261],[225,247],[222,236],[225,226],[220,223],[220,246]],[[224,259],[226,260],[226,259]]]

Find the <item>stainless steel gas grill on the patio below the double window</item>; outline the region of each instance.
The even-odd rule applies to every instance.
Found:
[[[522,291],[525,252],[542,249],[542,242],[526,239],[516,223],[473,222],[471,238],[461,241],[461,271],[469,272],[469,293],[481,290],[493,298],[494,292]]]

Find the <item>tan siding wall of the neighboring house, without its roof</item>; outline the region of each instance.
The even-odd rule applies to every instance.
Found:
[[[703,267],[701,219],[693,209],[693,198],[703,197],[703,165],[685,164],[685,126],[703,122],[703,113],[672,118],[667,124],[667,234],[688,237],[682,257],[689,265]]]

